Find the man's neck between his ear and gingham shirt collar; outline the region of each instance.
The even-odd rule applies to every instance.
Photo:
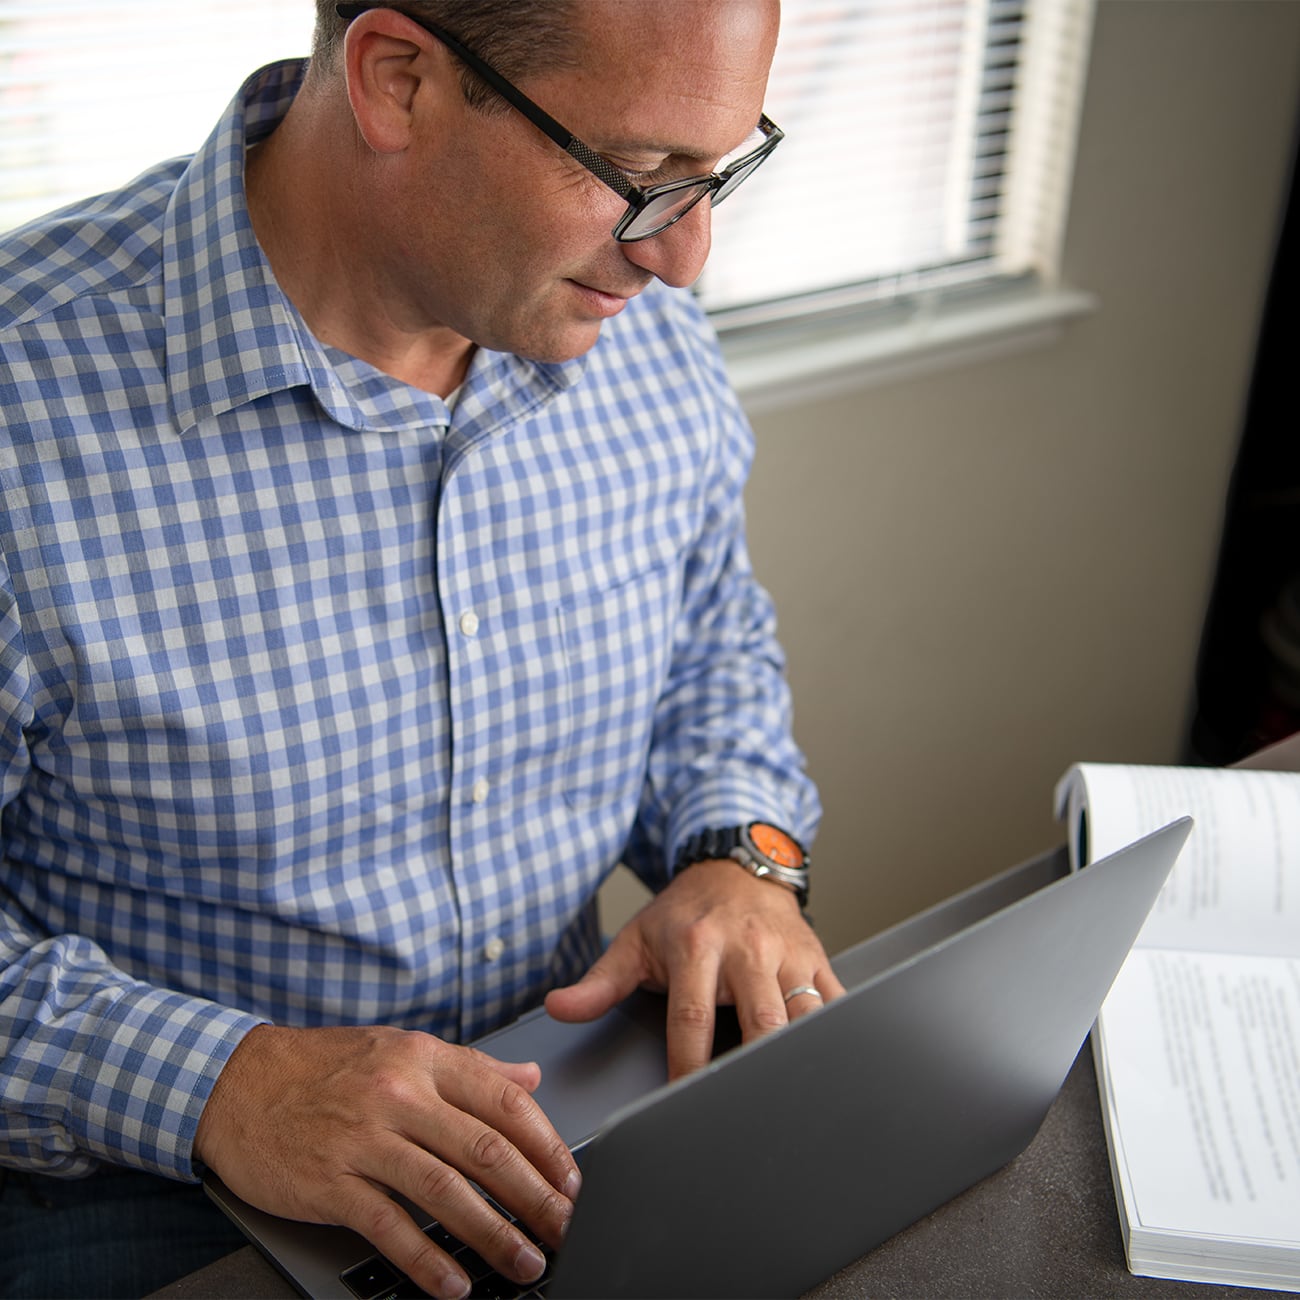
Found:
[[[338,117],[328,96],[300,92],[276,131],[248,151],[254,234],[277,283],[321,342],[447,396],[464,380],[473,344],[408,308],[378,231],[361,220],[384,202],[365,174],[365,146],[351,118]],[[337,150],[322,143],[332,140],[350,143]]]

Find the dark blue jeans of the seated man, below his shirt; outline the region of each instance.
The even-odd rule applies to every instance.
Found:
[[[88,1178],[0,1169],[0,1296],[140,1296],[237,1251],[203,1188],[101,1166]]]

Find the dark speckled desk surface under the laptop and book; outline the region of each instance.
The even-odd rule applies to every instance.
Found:
[[[866,1175],[868,1171],[863,1170]],[[809,1292],[846,1297],[1196,1296],[1269,1292],[1138,1278],[1124,1268],[1091,1052],[1079,1054],[1028,1149]],[[291,1297],[252,1248],[157,1292],[173,1300]]]

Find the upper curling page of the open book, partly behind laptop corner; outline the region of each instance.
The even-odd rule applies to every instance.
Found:
[[[1195,820],[1140,946],[1300,957],[1300,774],[1080,763],[1057,809],[1076,864]]]

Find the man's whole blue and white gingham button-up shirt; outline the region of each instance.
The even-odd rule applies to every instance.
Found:
[[[0,242],[0,1162],[191,1176],[259,1019],[476,1036],[620,858],[807,840],[750,436],[689,295],[454,415],[320,344],[192,161]]]

